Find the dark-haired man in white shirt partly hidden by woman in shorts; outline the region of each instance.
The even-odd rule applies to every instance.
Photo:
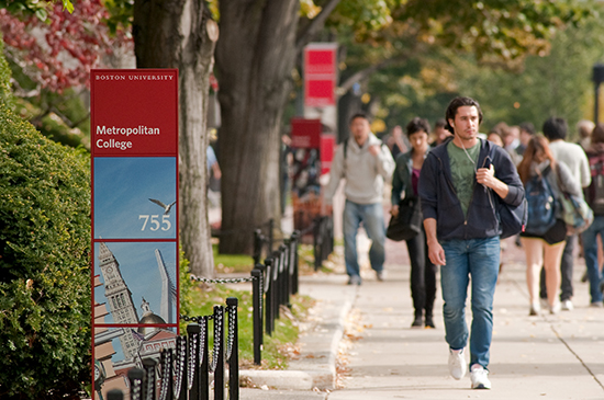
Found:
[[[590,171],[590,161],[583,148],[577,144],[566,141],[569,127],[564,118],[549,117],[544,123],[544,136],[549,140],[549,148],[553,153],[553,158],[558,162],[563,162],[572,172],[572,176],[581,184],[581,187],[588,187],[592,182]],[[579,237],[577,235],[567,236],[567,244],[562,252],[562,261],[560,262],[560,273],[562,277],[560,304],[562,310],[570,311],[572,305],[572,270],[574,264],[574,248]],[[547,289],[545,284],[545,270],[541,268],[540,275],[540,293],[541,299],[547,299]]]

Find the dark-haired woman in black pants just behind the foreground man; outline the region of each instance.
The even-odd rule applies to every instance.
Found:
[[[429,151],[429,123],[420,117],[411,119],[405,127],[411,150],[396,157],[396,169],[392,175],[393,216],[399,215],[399,203],[402,198],[417,197],[417,183],[424,159]],[[411,262],[411,297],[415,318],[414,328],[435,328],[433,319],[434,299],[436,298],[436,265],[429,261],[426,232],[422,231],[406,240]],[[425,311],[425,316],[424,316]],[[425,320],[424,320],[425,317]]]

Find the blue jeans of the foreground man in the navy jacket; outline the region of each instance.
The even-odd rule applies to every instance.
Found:
[[[500,238],[447,240],[441,243],[446,265],[440,267],[445,340],[452,350],[466,347],[466,297],[472,275],[470,366],[489,365],[493,333],[493,296],[500,266]]]

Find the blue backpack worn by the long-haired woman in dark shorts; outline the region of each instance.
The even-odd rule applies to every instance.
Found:
[[[556,224],[556,195],[547,175],[551,171],[548,167],[541,175],[535,175],[526,183],[525,195],[528,205],[526,233],[543,236]]]

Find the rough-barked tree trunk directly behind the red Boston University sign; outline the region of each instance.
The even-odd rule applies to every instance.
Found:
[[[191,273],[212,277],[214,260],[208,221],[205,168],[209,78],[214,42],[203,3],[197,0],[136,0],[134,52],[138,68],[178,68],[180,243]]]

